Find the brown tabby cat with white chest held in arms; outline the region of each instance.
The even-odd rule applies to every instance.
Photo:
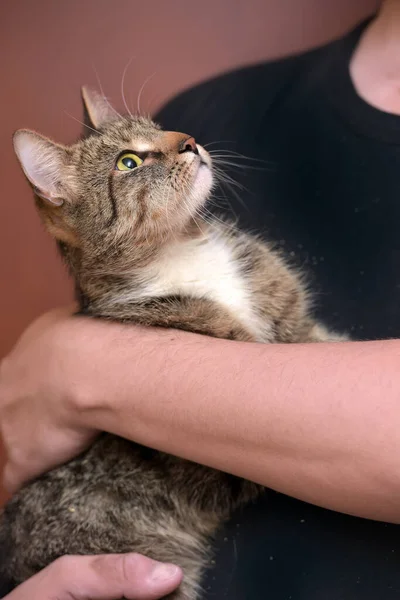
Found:
[[[204,218],[210,154],[183,133],[120,116],[83,88],[89,133],[71,146],[29,130],[14,149],[80,313],[262,343],[337,341],[314,321],[300,273],[257,236]],[[0,518],[3,580],[65,554],[135,551],[178,564],[175,600],[197,600],[212,539],[263,488],[103,434],[26,485]]]

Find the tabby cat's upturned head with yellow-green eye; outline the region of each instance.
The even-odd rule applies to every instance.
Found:
[[[131,253],[176,238],[213,184],[209,154],[190,135],[163,131],[141,116],[121,117],[83,89],[89,135],[62,146],[29,130],[14,148],[42,220],[83,256],[131,246]]]

